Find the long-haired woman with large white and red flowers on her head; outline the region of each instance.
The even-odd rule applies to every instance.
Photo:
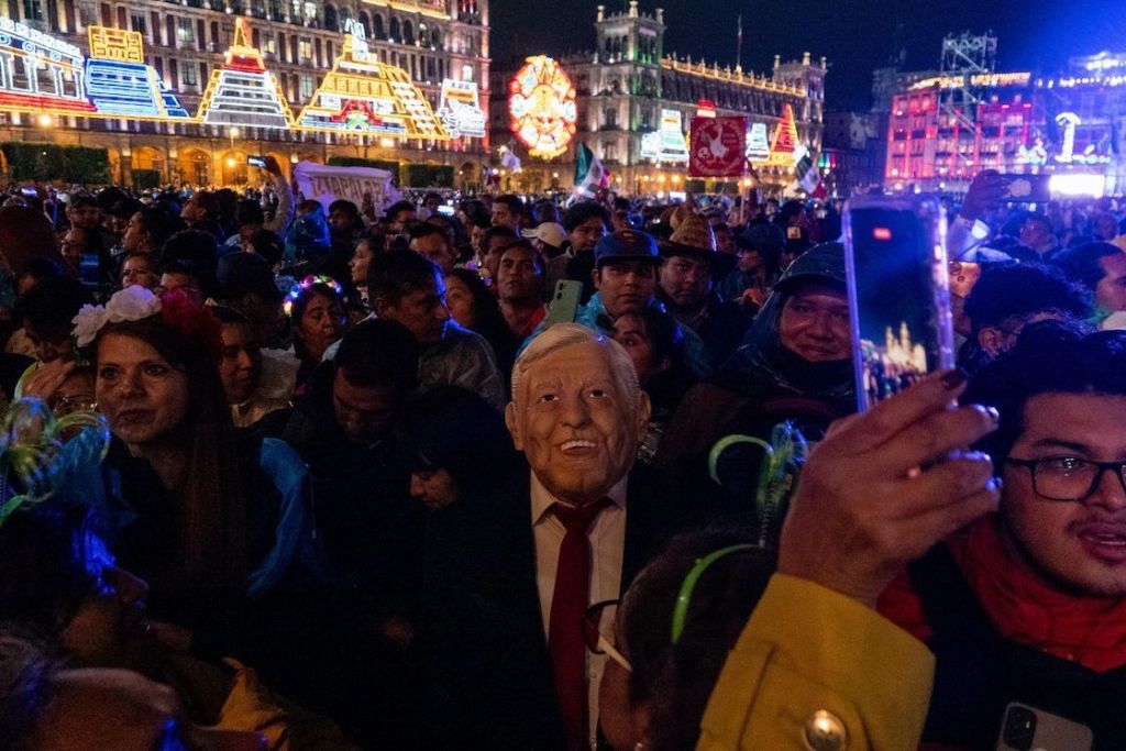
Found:
[[[114,436],[111,542],[151,582],[153,610],[207,629],[276,588],[312,537],[304,468],[282,441],[236,437],[212,312],[179,290],[128,287],[83,307],[74,336]]]

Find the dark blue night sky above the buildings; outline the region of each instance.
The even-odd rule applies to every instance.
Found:
[[[626,0],[601,0],[607,12]],[[490,0],[492,57],[593,50],[599,0]],[[1071,55],[1126,52],[1124,0],[641,0],[664,8],[664,50],[735,61],[735,17],[743,15],[743,68],[767,71],[775,54],[829,59],[831,109],[867,109],[872,70],[900,48],[912,70],[937,68],[947,33],[992,29],[998,70],[1062,69]]]

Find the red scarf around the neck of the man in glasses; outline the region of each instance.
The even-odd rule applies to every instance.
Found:
[[[1126,598],[1061,592],[1028,570],[986,517],[953,542],[966,581],[1006,638],[1096,672],[1126,664]]]

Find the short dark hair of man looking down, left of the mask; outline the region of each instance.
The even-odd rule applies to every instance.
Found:
[[[333,364],[355,386],[394,388],[401,394],[418,388],[418,342],[394,321],[372,319],[352,327],[340,340]]]

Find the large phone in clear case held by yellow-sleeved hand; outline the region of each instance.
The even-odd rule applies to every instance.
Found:
[[[935,196],[844,206],[852,363],[860,411],[954,367],[946,217]]]

